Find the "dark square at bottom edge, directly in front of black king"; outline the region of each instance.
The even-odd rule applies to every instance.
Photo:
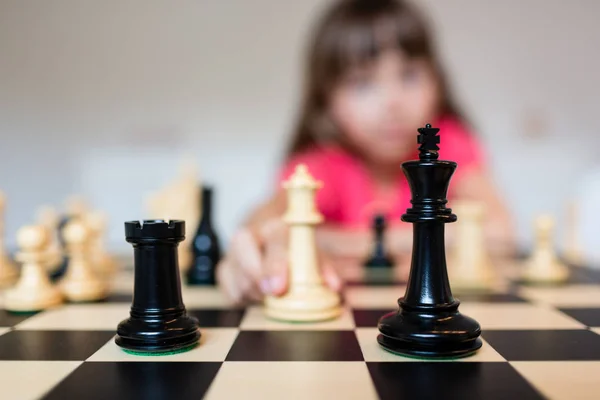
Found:
[[[543,399],[506,362],[369,362],[380,399]]]

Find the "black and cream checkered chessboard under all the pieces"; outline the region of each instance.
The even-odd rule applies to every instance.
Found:
[[[336,320],[275,322],[260,305],[232,306],[215,287],[183,286],[200,344],[161,356],[114,342],[128,317],[133,273],[119,272],[101,303],[37,314],[0,311],[3,399],[592,399],[600,397],[600,271],[572,267],[560,286],[504,285],[454,293],[482,327],[483,347],[457,360],[394,355],[377,320],[404,284],[356,279]],[[363,277],[364,278],[364,277]]]

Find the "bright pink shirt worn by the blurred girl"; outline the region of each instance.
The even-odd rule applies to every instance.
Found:
[[[450,181],[451,199],[452,185],[467,171],[483,165],[483,151],[476,138],[457,120],[444,118],[434,126],[440,128],[440,159],[458,164]],[[416,136],[415,130],[415,151],[408,159],[418,159]],[[400,166],[393,195],[384,196],[376,192],[361,159],[339,146],[315,147],[293,156],[284,165],[279,182],[287,179],[298,164],[305,164],[311,175],[323,182],[316,202],[326,223],[363,229],[371,226],[376,213],[383,213],[389,225],[408,226],[400,221],[410,207],[410,189]]]

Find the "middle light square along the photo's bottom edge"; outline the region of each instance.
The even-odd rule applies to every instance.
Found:
[[[364,362],[224,363],[207,400],[377,399]]]

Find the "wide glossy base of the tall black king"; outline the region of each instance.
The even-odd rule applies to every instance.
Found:
[[[482,346],[481,328],[458,312],[458,302],[444,306],[393,311],[378,324],[377,342],[392,353],[422,358],[467,357]]]

